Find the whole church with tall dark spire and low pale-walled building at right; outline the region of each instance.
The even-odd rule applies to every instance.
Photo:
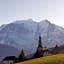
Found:
[[[41,40],[42,40],[41,35],[39,35],[38,46],[37,46],[36,53],[34,55],[35,58],[47,56],[49,54],[49,50],[43,48]]]

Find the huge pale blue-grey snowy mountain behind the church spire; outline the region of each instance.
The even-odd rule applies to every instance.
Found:
[[[64,28],[48,20],[35,22],[32,19],[19,20],[0,28],[0,43],[24,49],[27,54],[36,50],[38,36],[42,36],[42,45],[53,47],[64,44]]]

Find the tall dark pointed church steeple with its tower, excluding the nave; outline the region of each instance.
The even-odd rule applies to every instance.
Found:
[[[43,56],[43,46],[42,46],[41,36],[39,36],[38,47],[34,57],[39,58],[42,56]]]

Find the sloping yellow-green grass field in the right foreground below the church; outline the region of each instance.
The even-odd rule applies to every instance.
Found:
[[[50,55],[17,64],[64,64],[64,54]]]

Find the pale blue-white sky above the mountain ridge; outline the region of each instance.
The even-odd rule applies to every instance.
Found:
[[[64,27],[64,0],[0,0],[0,25],[29,18]]]

